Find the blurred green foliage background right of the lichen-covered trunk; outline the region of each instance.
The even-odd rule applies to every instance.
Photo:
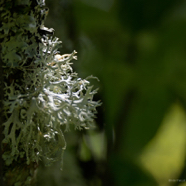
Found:
[[[95,129],[65,133],[45,186],[186,186],[186,1],[46,0],[46,26],[78,51],[102,100]]]

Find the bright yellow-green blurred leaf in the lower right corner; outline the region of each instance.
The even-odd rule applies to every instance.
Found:
[[[179,104],[174,104],[141,155],[143,166],[159,185],[166,185],[169,179],[175,180],[183,169],[186,158],[185,123],[185,111]]]

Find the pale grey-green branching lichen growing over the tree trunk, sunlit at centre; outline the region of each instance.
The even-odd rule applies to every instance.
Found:
[[[61,126],[91,126],[100,105],[89,81],[72,70],[76,52],[59,54],[61,42],[44,26],[47,12],[44,0],[0,2],[6,165],[58,160],[66,148]]]

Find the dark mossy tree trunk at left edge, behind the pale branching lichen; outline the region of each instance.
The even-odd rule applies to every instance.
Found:
[[[27,85],[23,82],[23,80],[28,77],[24,77],[25,71],[23,71],[22,68],[28,66],[35,67],[36,56],[39,53],[39,44],[41,43],[43,32],[41,27],[46,13],[47,8],[42,0],[0,1],[0,99],[1,109],[4,108],[3,112],[1,110],[0,117],[1,141],[4,138],[2,134],[2,119],[4,118],[4,120],[7,120],[12,113],[10,108],[12,105],[6,105],[6,103],[4,103],[5,105],[3,107],[2,100],[4,98],[8,100],[11,99],[11,97],[13,100],[13,97],[17,94],[16,92],[26,94],[26,89],[34,90],[34,87],[29,87],[31,85],[29,80]],[[30,73],[32,73],[31,69]],[[25,87],[21,87],[23,84]],[[9,87],[9,90],[4,90],[4,86],[6,88]],[[14,122],[14,120],[12,120],[12,122]],[[12,122],[7,132],[8,135],[10,135],[10,130],[13,130]],[[17,127],[14,131],[16,133],[14,137],[16,138],[20,130]],[[4,134],[5,133],[6,132],[4,132]],[[4,179],[6,186],[33,185],[38,162],[28,163],[25,154],[21,157],[17,156],[16,152],[12,153],[11,149],[16,148],[16,144],[13,144],[13,140],[13,137],[9,137],[9,141],[12,142],[11,145],[9,141],[3,141],[2,153],[5,164],[3,166],[3,161],[1,161],[1,178]],[[13,145],[14,147],[12,147]],[[2,155],[2,153],[0,155]],[[11,158],[11,156],[13,157]],[[1,179],[1,181],[3,181],[3,179]],[[2,182],[1,185],[3,185]]]

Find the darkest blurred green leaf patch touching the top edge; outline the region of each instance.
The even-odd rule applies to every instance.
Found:
[[[177,4],[175,0],[119,0],[119,17],[124,27],[138,32],[158,26],[161,19]]]

